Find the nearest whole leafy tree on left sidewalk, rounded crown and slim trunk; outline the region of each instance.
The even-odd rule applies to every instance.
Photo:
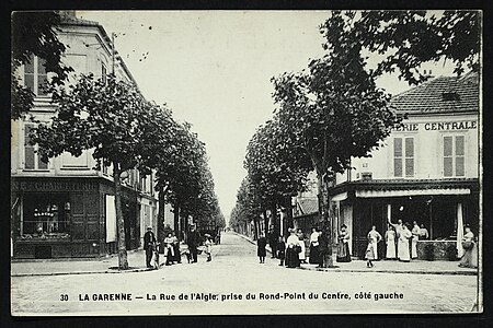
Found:
[[[53,121],[33,130],[32,142],[39,144],[42,159],[69,152],[74,156],[93,150],[96,163],[113,165],[117,224],[118,268],[128,269],[124,218],[122,215],[121,175],[145,164],[149,156],[147,141],[158,140],[152,114],[156,105],[147,102],[137,87],[110,75],[107,82],[92,74],[80,75],[76,84],[59,87],[53,94],[58,109]],[[99,164],[96,166],[99,168]]]

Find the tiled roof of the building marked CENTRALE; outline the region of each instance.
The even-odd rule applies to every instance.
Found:
[[[479,75],[436,78],[395,95],[390,107],[402,114],[479,113]]]

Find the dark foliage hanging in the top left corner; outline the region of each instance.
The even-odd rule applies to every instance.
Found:
[[[57,31],[60,15],[54,11],[13,12],[11,48],[11,118],[19,119],[33,107],[34,94],[20,84],[18,68],[30,62],[35,55],[44,59],[47,73],[51,73],[51,83],[59,85],[67,79],[70,67],[61,62],[66,46],[58,40]]]

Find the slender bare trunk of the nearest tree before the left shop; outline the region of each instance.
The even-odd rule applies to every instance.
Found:
[[[127,245],[125,243],[125,222],[122,213],[122,185],[118,163],[113,163],[113,180],[115,184],[115,211],[116,211],[116,231],[118,245],[118,269],[128,270]]]

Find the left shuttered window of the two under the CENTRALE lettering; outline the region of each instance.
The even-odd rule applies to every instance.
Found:
[[[393,176],[414,176],[414,138],[393,139]]]

